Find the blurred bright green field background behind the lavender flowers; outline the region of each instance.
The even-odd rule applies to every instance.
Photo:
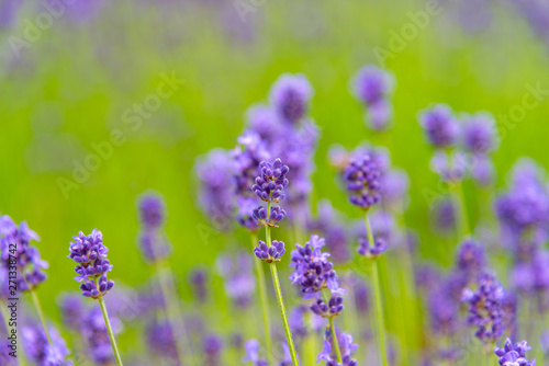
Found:
[[[314,202],[329,197],[358,217],[335,184],[327,149],[334,142],[348,148],[362,140],[389,144],[394,164],[411,176],[406,220],[419,233],[422,255],[450,263],[453,253],[435,250],[440,240],[429,231],[425,192],[437,191],[438,182],[428,168],[432,150],[416,113],[446,102],[456,111],[490,111],[502,127],[502,115],[522,103],[526,85],[549,89],[549,59],[546,45],[511,3],[490,4],[480,30],[463,24],[459,2],[445,3],[388,59],[397,79],[395,126],[390,141],[379,141],[363,124],[349,79],[362,65],[377,62],[374,47],[390,49],[393,32],[411,23],[407,12],[425,9],[412,0],[267,0],[243,21],[231,1],[105,3],[83,22],[67,14],[55,19],[15,57],[10,37],[23,37],[24,20],[44,11],[25,2],[19,21],[0,33],[0,213],[27,220],[42,238],[38,248],[51,265],[40,289],[47,316],[58,318],[59,291],[78,290],[71,279],[75,265],[66,255],[79,230],[103,232],[113,279],[146,281],[150,271],[135,245],[135,198],[149,188],[168,204],[167,235],[178,276],[184,281],[193,265],[214,262],[227,241],[216,231],[206,230],[208,240],[201,236],[210,225],[197,208],[194,160],[212,148],[233,148],[246,108],[265,101],[282,72],[303,72],[315,89],[312,115],[322,138]],[[131,130],[124,111],[155,93],[161,73],[172,72],[183,84]],[[548,113],[544,100],[515,127],[504,128],[494,155],[498,187],[522,156],[549,168]],[[75,161],[82,163],[93,152],[91,144],[109,140],[113,129],[127,140],[65,197],[59,178],[71,179]],[[477,219],[474,191],[466,186],[466,195]],[[184,286],[182,296],[190,296]]]

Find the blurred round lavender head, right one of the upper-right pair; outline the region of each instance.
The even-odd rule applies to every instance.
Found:
[[[464,117],[462,134],[463,147],[474,155],[486,155],[496,148],[495,121],[489,113]]]

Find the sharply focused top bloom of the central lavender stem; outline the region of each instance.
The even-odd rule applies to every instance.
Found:
[[[283,201],[284,187],[288,185],[285,175],[290,168],[283,165],[280,159],[276,159],[272,163],[262,161],[259,167],[261,174],[256,178],[256,184],[251,186],[251,191],[259,199],[268,203]]]

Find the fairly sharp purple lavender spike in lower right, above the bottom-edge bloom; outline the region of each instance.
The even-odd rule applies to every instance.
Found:
[[[479,279],[477,290],[463,290],[462,300],[469,304],[467,322],[477,327],[477,338],[488,344],[496,342],[505,332],[502,309],[504,297],[503,286],[489,274],[483,274]]]

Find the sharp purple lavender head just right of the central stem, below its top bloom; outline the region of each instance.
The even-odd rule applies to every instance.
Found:
[[[339,287],[339,279],[334,271],[334,264],[328,261],[329,253],[323,253],[326,244],[324,238],[311,236],[305,245],[295,244],[292,250],[294,272],[290,276],[292,284],[301,286],[305,298],[315,298],[323,288],[328,288],[333,295],[344,295],[345,289]]]

